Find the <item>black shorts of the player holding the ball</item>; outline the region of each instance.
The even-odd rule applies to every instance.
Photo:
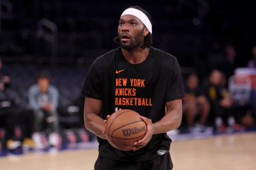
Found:
[[[145,162],[120,162],[102,156],[98,156],[95,162],[95,170],[171,170],[172,168],[173,165],[169,153]]]

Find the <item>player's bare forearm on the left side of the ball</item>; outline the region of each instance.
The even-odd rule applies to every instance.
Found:
[[[103,131],[105,131],[104,120],[97,116],[95,113],[85,114],[84,126],[98,137],[106,139],[105,134],[102,133]]]

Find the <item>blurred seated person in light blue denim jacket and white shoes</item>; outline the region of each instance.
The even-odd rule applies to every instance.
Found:
[[[58,135],[56,133],[59,121],[56,112],[59,91],[50,84],[50,73],[41,72],[37,78],[37,84],[29,88],[29,106],[35,113],[34,129],[32,135],[33,141],[38,149],[44,149],[41,135],[39,132],[46,131],[48,136],[48,144],[50,147],[56,147],[58,144]]]

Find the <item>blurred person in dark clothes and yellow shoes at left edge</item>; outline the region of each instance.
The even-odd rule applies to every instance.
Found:
[[[20,104],[20,98],[11,89],[11,79],[1,73],[0,58],[0,127],[6,131],[8,149],[16,149],[23,145],[33,146],[31,140],[33,116],[31,110]]]

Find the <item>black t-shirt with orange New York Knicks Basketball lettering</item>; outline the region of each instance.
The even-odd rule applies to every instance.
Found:
[[[117,109],[131,109],[157,122],[165,115],[165,103],[184,97],[181,69],[175,57],[150,47],[147,59],[129,63],[121,48],[98,57],[90,67],[82,93],[102,100],[101,117],[106,119]],[[99,155],[114,160],[139,162],[158,156],[157,150],[170,149],[170,138],[153,135],[142,149],[120,151],[98,137]]]

